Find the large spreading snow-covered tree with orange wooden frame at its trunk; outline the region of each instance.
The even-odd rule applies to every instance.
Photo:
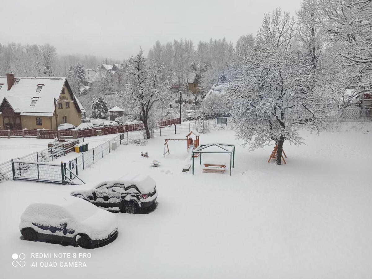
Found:
[[[237,138],[249,142],[250,149],[274,140],[278,165],[285,141],[303,142],[301,126],[322,127],[328,103],[314,88],[313,68],[294,49],[293,36],[294,21],[288,13],[278,9],[266,14],[254,47],[238,53],[229,85]]]

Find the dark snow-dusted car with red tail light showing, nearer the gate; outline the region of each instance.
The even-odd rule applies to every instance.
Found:
[[[90,190],[73,191],[71,195],[99,207],[118,208],[122,213],[135,214],[139,209],[153,205],[158,193],[154,179],[148,175],[138,174],[101,182]]]

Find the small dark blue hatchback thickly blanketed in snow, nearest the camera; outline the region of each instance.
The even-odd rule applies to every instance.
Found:
[[[19,229],[24,240],[94,248],[115,240],[118,221],[113,213],[66,197],[30,204],[21,216]]]

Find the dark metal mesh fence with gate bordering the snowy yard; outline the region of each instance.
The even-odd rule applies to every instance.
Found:
[[[209,125],[213,126],[214,122],[211,121]],[[169,124],[156,128],[153,131],[153,137],[183,134],[186,138],[187,133],[195,129],[196,125],[194,122]],[[134,139],[144,139],[144,130],[120,133],[107,142],[80,153],[73,160],[64,163],[64,174],[61,174],[61,164],[52,162],[63,156],[65,154],[64,151],[60,148],[58,149],[58,147],[49,147],[48,149],[16,158],[13,160],[13,164],[15,164],[13,168],[12,161],[0,164],[0,182],[5,179],[16,178],[18,180],[49,181],[62,184],[71,183],[81,171],[98,162],[104,156],[111,153],[113,149],[120,148],[121,145],[128,144],[128,142]],[[82,141],[83,139],[79,139],[79,142]],[[69,148],[71,148],[70,145]],[[78,179],[81,180],[80,178]]]

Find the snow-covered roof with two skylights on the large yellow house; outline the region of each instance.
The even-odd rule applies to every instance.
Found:
[[[4,85],[0,89],[0,104],[6,100],[20,115],[53,116],[54,98],[59,98],[67,81],[64,77],[15,77],[10,90],[7,90],[6,77],[0,77],[1,83]],[[40,92],[36,92],[38,86],[41,86]],[[84,110],[78,100],[77,103],[80,110]]]

